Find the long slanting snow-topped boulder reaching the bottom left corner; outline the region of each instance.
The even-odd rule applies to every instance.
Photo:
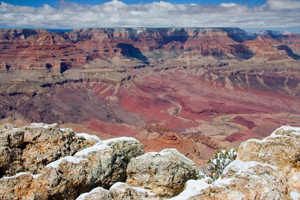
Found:
[[[49,163],[40,174],[16,174],[0,179],[1,199],[74,199],[80,193],[126,180],[127,163],[143,153],[131,137],[103,140]]]

